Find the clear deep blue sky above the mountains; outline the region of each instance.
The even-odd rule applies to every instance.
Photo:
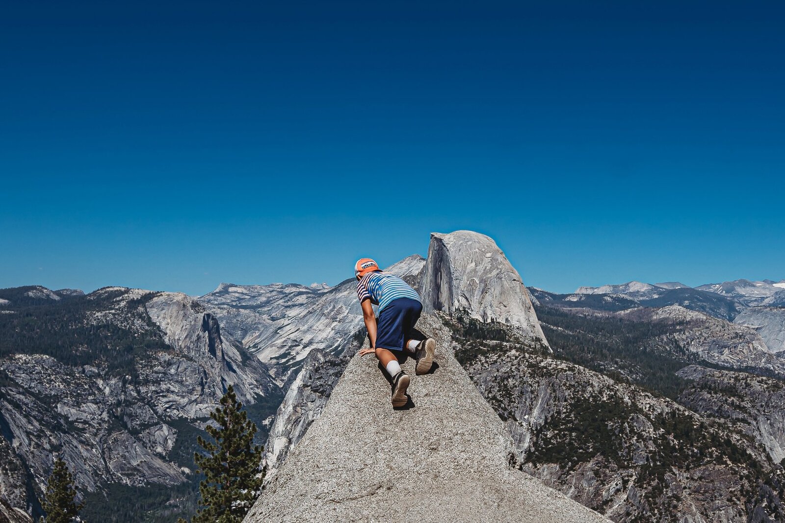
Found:
[[[5,2],[0,287],[785,278],[783,2]]]

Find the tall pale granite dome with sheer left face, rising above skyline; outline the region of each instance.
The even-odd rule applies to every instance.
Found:
[[[547,345],[528,291],[491,238],[471,231],[431,234],[422,280],[425,311],[466,311],[498,321]]]

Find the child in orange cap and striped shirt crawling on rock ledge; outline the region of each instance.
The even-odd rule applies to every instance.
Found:
[[[360,356],[374,353],[392,379],[392,406],[407,403],[409,376],[403,372],[396,354],[410,354],[417,360],[416,374],[425,374],[433,364],[436,340],[422,339],[414,324],[422,313],[417,291],[400,277],[379,269],[371,258],[361,258],[354,266],[357,279],[357,298],[363,307],[363,320],[371,340],[369,349]],[[379,306],[378,321],[372,305]]]

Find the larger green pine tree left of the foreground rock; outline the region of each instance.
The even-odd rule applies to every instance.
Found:
[[[206,454],[197,452],[194,461],[205,475],[199,483],[203,508],[196,511],[192,523],[239,523],[259,494],[264,478],[259,466],[262,448],[254,444],[256,425],[242,409],[229,386],[221,406],[210,412],[217,426],[206,427],[215,443],[199,436]]]

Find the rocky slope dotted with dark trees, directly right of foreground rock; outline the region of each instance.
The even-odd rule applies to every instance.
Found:
[[[456,354],[505,420],[520,468],[613,521],[785,517],[777,467],[736,426],[520,344]]]

